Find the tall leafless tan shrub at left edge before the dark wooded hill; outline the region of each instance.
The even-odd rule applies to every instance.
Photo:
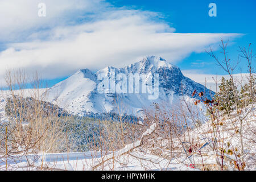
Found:
[[[1,138],[6,147],[0,148],[0,158],[7,156],[10,161],[18,161],[29,154],[63,150],[62,131],[68,116],[64,110],[44,101],[47,90],[40,89],[43,83],[38,74],[30,79],[23,70],[9,70],[5,80],[8,89],[2,92],[5,92],[7,132]],[[28,85],[32,88],[27,89]],[[27,159],[28,166],[36,160]]]

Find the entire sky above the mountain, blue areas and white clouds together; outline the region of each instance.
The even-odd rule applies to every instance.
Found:
[[[40,2],[46,17],[38,17]],[[216,17],[208,15],[212,2]],[[0,5],[0,85],[7,68],[38,71],[53,85],[78,69],[123,67],[147,55],[162,56],[186,76],[225,75],[205,49],[212,46],[220,57],[221,38],[229,40],[230,59],[237,59],[238,46],[252,43],[256,49],[254,0],[2,0]],[[246,72],[243,63],[240,72]]]

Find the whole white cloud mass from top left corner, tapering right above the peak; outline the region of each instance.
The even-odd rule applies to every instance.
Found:
[[[45,1],[48,13],[43,19],[37,16],[38,2],[1,1],[1,12],[13,9],[16,14],[3,11],[0,35],[13,42],[18,40],[0,52],[0,77],[7,68],[37,70],[43,78],[62,77],[80,68],[122,67],[146,55],[162,56],[175,63],[192,52],[214,46],[221,38],[239,35],[177,34],[168,23],[152,20],[156,13],[117,9],[104,1]]]

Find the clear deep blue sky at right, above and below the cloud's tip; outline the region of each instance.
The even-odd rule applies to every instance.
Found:
[[[170,26],[179,33],[241,33],[240,38],[230,41],[228,51],[230,57],[237,59],[238,46],[248,46],[253,43],[251,48],[256,46],[256,1],[216,1],[216,0],[197,0],[197,1],[147,1],[147,0],[114,0],[109,1],[114,6],[127,6],[133,9],[156,11],[163,15],[163,20],[170,23]],[[210,17],[208,11],[209,3],[216,3],[217,16]],[[219,51],[216,51],[218,54]],[[226,74],[219,69],[211,57],[205,52],[191,53],[182,61],[176,64],[181,70],[194,69],[195,72],[219,75]],[[242,71],[246,67],[240,64]],[[236,73],[241,70],[237,69]]]

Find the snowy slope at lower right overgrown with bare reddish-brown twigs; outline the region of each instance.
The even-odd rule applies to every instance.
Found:
[[[249,114],[248,114],[249,113]],[[247,115],[248,114],[248,115]],[[241,135],[240,119],[242,120],[242,140],[243,154],[241,155]],[[214,132],[213,132],[214,130]],[[236,112],[231,117],[220,117],[218,126],[212,125],[210,121],[193,127],[183,135],[172,140],[173,146],[178,146],[172,151],[174,154],[182,152],[173,158],[172,163],[193,164],[196,168],[210,170],[220,170],[218,163],[222,163],[221,151],[224,151],[223,167],[227,170],[234,170],[236,162],[239,162],[241,168],[244,162],[245,170],[256,170],[256,110],[251,109],[251,105],[241,110],[238,116]],[[181,144],[181,142],[183,144]],[[153,150],[161,150],[163,156],[170,156],[167,150],[170,140],[159,138],[150,140],[150,145],[154,144]],[[192,148],[189,152],[189,147]],[[187,154],[184,152],[186,150]]]

